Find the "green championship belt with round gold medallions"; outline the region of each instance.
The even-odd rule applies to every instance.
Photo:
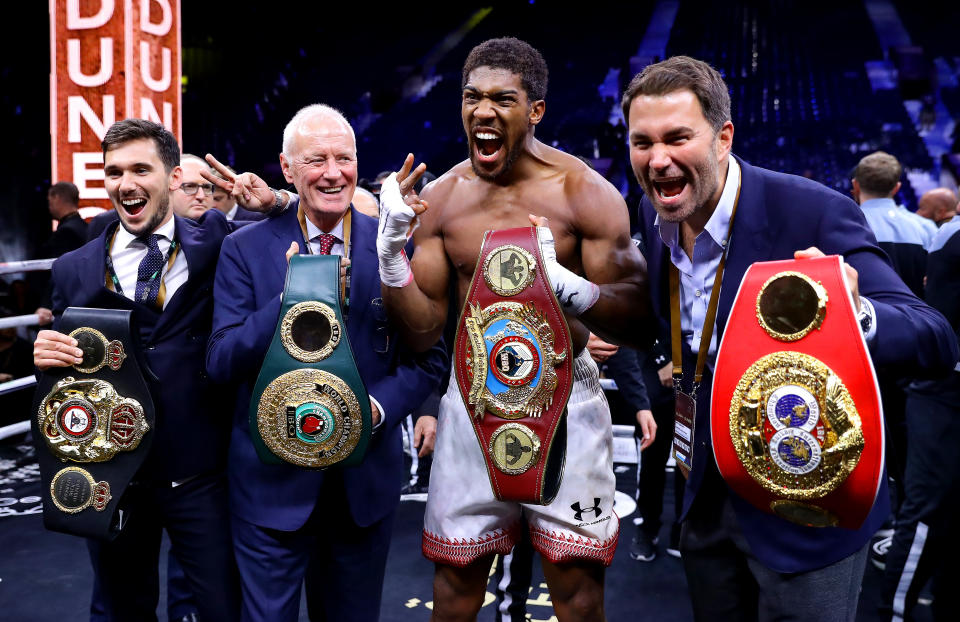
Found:
[[[340,310],[340,257],[294,255],[280,322],[250,399],[250,437],[266,464],[359,464],[373,428]]]

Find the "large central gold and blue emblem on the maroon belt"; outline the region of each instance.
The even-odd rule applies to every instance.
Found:
[[[469,314],[467,403],[473,415],[480,418],[489,411],[504,419],[539,417],[553,402],[555,367],[567,356],[555,350],[553,329],[543,313],[532,303],[503,301],[484,309],[470,303]]]

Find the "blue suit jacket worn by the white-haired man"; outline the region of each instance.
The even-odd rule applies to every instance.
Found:
[[[396,507],[403,469],[399,423],[447,374],[442,344],[414,357],[390,329],[380,300],[376,239],[377,221],[353,210],[347,333],[367,391],[386,415],[363,463],[342,469],[349,510],[361,526]],[[296,201],[276,218],[252,224],[226,239],[217,268],[213,335],[207,350],[210,376],[236,388],[229,457],[231,509],[247,522],[285,531],[302,527],[314,506],[323,503],[319,493],[324,472],[262,463],[250,440],[247,413],[279,319],[290,242],[304,250]]]

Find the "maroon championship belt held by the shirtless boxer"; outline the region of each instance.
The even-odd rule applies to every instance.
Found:
[[[560,487],[570,331],[534,227],[487,231],[464,303],[457,385],[502,501],[547,504]]]

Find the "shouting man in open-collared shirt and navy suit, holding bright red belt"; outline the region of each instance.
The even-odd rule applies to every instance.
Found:
[[[706,63],[674,57],[647,67],[627,87],[623,112],[631,164],[646,194],[640,206],[642,233],[652,302],[664,334],[670,334],[671,263],[679,273],[681,388],[688,394],[696,352],[706,347],[709,355],[696,392],[693,470],[680,540],[695,617],[852,621],[866,544],[888,512],[885,483],[857,531],[802,527],[731,492],[711,451],[716,345],[750,264],[823,253],[842,255],[847,262],[851,294],[878,368],[949,369],[958,356],[950,325],[897,277],[856,204],[809,180],[730,157],[727,85]],[[714,280],[724,253],[715,328],[703,326],[706,301],[721,286]],[[701,338],[711,331],[712,339]]]

